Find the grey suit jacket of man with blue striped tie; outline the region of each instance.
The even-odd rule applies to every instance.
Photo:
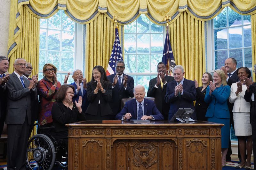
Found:
[[[7,115],[6,124],[23,124],[25,122],[26,114],[28,123],[31,123],[31,100],[36,100],[37,91],[29,90],[29,80],[23,76],[25,84],[24,88],[20,79],[13,72],[9,75],[10,79],[7,82]]]

